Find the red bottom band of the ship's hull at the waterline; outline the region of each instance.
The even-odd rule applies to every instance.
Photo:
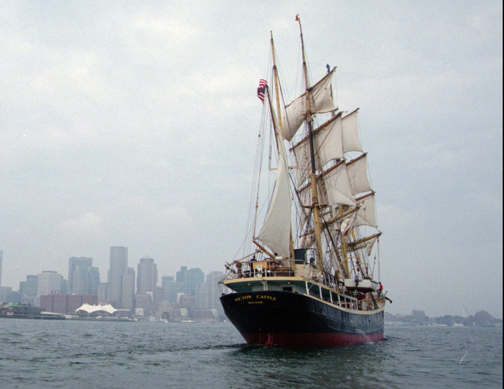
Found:
[[[353,335],[342,333],[241,334],[249,344],[280,346],[346,346],[383,340],[383,334]]]

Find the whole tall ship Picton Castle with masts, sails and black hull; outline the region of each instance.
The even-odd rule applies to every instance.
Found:
[[[358,135],[358,109],[342,111],[335,104],[336,68],[327,65],[327,73],[310,82],[298,16],[296,21],[301,94],[282,104],[271,34],[273,88],[267,80],[258,88],[264,109],[247,238],[243,256],[225,265],[220,300],[250,344],[380,341],[388,298],[379,282],[381,232]],[[271,190],[263,183],[268,179],[274,182]]]

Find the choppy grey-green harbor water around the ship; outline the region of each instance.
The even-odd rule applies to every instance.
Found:
[[[0,319],[0,387],[502,387],[502,329],[385,330],[300,349],[246,345],[230,324]]]

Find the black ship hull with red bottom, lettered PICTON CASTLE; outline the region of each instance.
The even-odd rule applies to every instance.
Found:
[[[220,300],[247,343],[342,346],[383,339],[383,309],[345,310],[280,291],[231,293]]]

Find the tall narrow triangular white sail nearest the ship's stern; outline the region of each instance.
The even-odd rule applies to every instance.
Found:
[[[275,115],[274,115],[275,116]],[[276,118],[273,119],[278,128]],[[289,165],[283,139],[275,131],[278,145],[278,169],[275,189],[263,228],[257,236],[273,253],[283,257],[290,255],[291,203],[289,189]]]

